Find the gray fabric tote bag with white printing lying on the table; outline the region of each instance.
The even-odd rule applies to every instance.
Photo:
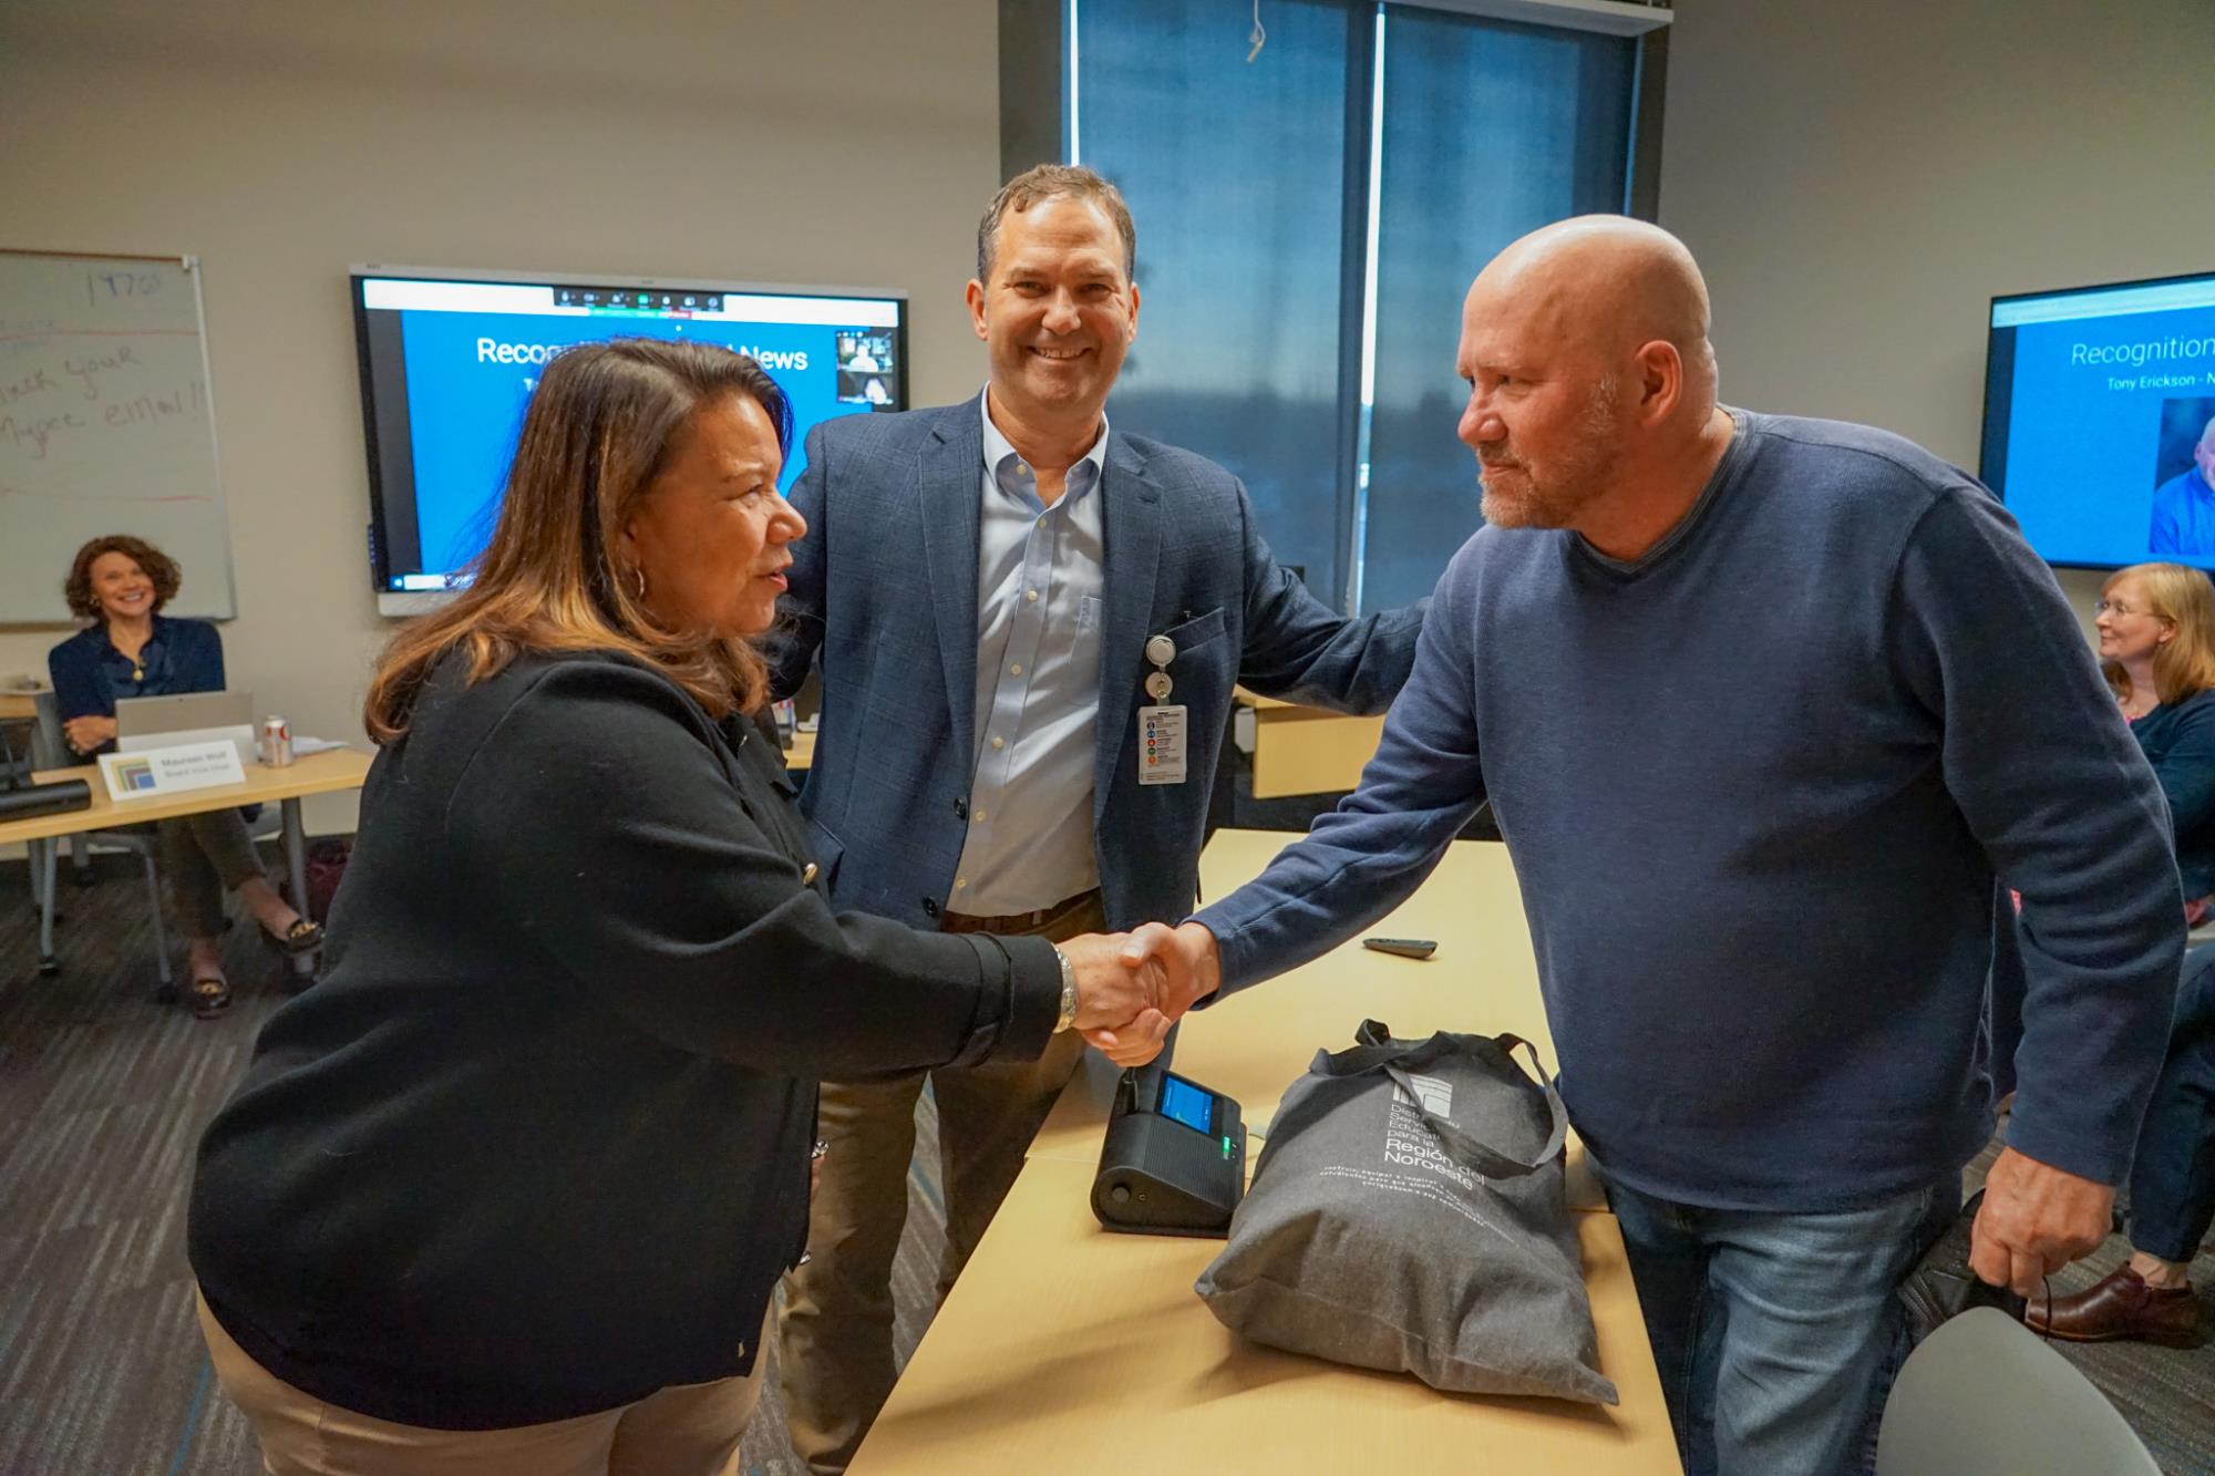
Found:
[[[1194,1290],[1225,1328],[1435,1390],[1613,1405],[1562,1188],[1568,1113],[1515,1035],[1318,1050]],[[1511,1055],[1531,1053],[1533,1079]]]

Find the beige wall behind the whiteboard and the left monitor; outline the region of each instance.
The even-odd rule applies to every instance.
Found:
[[[202,257],[230,678],[295,731],[359,738],[392,625],[363,552],[346,268],[904,288],[910,390],[957,399],[983,377],[961,284],[999,184],[995,16],[995,0],[9,0],[0,246]],[[62,634],[0,627],[0,674],[42,672]],[[348,829],[352,804],[308,822]]]

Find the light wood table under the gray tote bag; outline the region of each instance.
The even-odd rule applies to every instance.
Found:
[[[1291,840],[1223,831],[1205,895]],[[1553,1066],[1537,973],[1504,847],[1455,842],[1380,935],[1435,937],[1426,962],[1333,953],[1187,1017],[1176,1068],[1245,1106],[1258,1157],[1276,1099],[1318,1046],[1378,1017],[1398,1035],[1515,1031]],[[1108,1073],[1112,1082],[1112,1073]],[[1192,1281],[1223,1241],[1108,1234],[1092,1219],[1103,1113],[1072,1084],[1014,1190],[902,1372],[855,1476],[1132,1469],[1677,1474],[1621,1230],[1584,1177],[1575,1214],[1599,1367],[1617,1407],[1440,1394],[1413,1376],[1282,1354],[1223,1328]],[[1575,1179],[1573,1179],[1575,1186]],[[1573,1195],[1575,1197],[1575,1195]]]

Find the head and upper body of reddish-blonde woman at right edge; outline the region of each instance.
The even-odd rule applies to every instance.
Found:
[[[2135,563],[2100,590],[2093,625],[2131,734],[2168,796],[2191,922],[2215,893],[2215,585],[2182,563]]]

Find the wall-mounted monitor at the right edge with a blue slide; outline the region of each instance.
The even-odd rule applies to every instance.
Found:
[[[2215,570],[2215,273],[1993,297],[1978,474],[2047,563]]]

